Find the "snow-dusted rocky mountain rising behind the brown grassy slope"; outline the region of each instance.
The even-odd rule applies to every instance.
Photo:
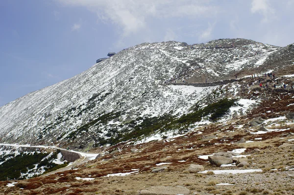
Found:
[[[154,133],[164,137],[186,132],[197,122],[221,118],[237,101],[230,98],[246,97],[237,88],[220,94],[218,86],[187,83],[285,69],[293,73],[293,55],[293,45],[277,47],[245,39],[138,44],[71,79],[2,106],[0,142],[88,151]],[[176,85],[166,85],[171,82]]]

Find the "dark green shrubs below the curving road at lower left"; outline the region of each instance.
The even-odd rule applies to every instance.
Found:
[[[52,160],[57,158],[57,154],[60,151],[54,152],[52,155],[48,156],[48,153],[42,152],[32,152],[32,153],[21,153],[13,158],[8,159],[4,163],[0,165],[0,180],[7,180],[9,179],[25,179],[21,176],[21,173],[33,173],[36,170],[42,169],[41,167],[44,166],[46,171],[54,171],[58,168],[66,166],[57,165],[52,163]],[[11,154],[5,155],[1,157],[1,160],[4,160],[7,157],[12,157]],[[48,156],[48,157],[47,157]],[[47,158],[45,158],[47,157]],[[44,159],[44,160],[43,160]],[[37,164],[37,169],[32,170],[35,168]],[[29,171],[31,170],[31,171]]]

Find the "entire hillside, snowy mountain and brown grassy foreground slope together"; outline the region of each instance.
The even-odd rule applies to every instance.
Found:
[[[0,108],[0,194],[292,195],[293,64],[245,39],[124,49]]]

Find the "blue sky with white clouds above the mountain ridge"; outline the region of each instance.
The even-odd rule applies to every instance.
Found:
[[[140,43],[294,43],[294,0],[0,0],[0,107]]]

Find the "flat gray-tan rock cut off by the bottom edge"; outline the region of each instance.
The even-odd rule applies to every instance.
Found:
[[[141,190],[139,195],[189,195],[190,190],[183,186],[152,186],[146,190]]]

